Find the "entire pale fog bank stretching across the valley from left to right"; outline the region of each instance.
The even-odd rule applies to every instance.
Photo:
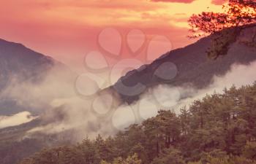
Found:
[[[80,81],[76,76],[55,68],[36,84],[12,80],[1,97],[13,98],[18,104],[34,109],[38,117],[31,116],[29,112],[0,117],[0,128],[40,119],[45,124],[27,131],[28,137],[34,133],[53,134],[67,130],[74,130],[74,141],[80,141],[86,136],[94,138],[99,133],[109,136],[130,124],[154,117],[159,109],[170,109],[178,114],[182,106],[189,106],[206,94],[222,93],[225,87],[232,85],[240,87],[252,84],[256,79],[255,69],[256,62],[248,66],[234,64],[225,76],[215,76],[211,85],[202,90],[196,90],[192,85],[158,85],[140,95],[140,101],[135,104],[118,106],[118,98],[113,97],[108,90],[92,94],[102,87],[97,82],[91,84],[93,79]],[[81,84],[84,86],[80,87]],[[87,91],[91,95],[85,95]]]

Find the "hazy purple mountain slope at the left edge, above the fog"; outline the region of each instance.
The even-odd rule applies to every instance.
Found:
[[[54,64],[53,58],[29,50],[22,44],[0,39],[0,90],[12,77],[35,80]]]

